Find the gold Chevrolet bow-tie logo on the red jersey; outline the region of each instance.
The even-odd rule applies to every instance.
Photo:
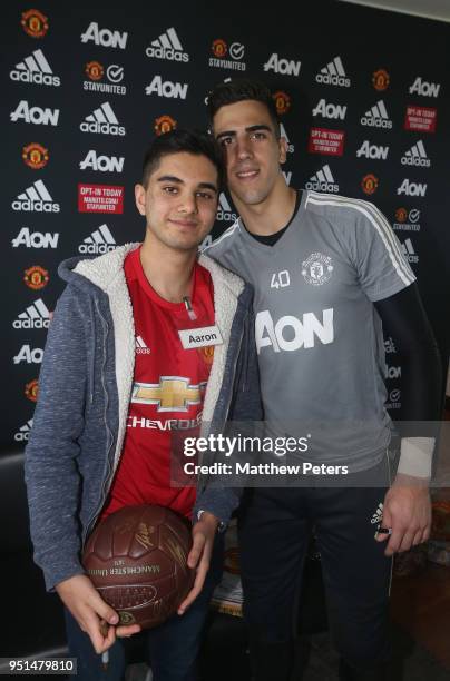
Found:
[[[206,381],[189,385],[189,378],[162,376],[159,383],[135,383],[131,402],[156,404],[158,412],[187,412],[202,403],[205,389]]]

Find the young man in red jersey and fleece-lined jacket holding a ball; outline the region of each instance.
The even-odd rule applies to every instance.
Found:
[[[148,632],[148,647],[155,681],[197,678],[217,581],[208,573],[214,537],[237,499],[231,490],[172,487],[170,435],[187,423],[261,416],[251,288],[209,258],[197,261],[221,180],[221,155],[207,136],[175,130],[157,138],[135,189],[144,243],[60,266],[68,286],[49,329],[26,478],[36,562],[67,608],[84,681],[121,679],[118,639],[139,628],[117,625],[84,573],[82,544],[99,519],[143,503],[193,519],[194,586],[178,614]],[[217,344],[186,347],[184,330],[202,336],[211,327]],[[98,653],[107,650],[104,670]]]

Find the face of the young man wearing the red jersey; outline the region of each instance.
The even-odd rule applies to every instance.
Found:
[[[217,170],[206,156],[163,156],[147,187],[136,185],[136,206],[153,238],[175,250],[196,250],[217,210]]]

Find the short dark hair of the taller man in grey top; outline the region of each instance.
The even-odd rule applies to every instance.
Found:
[[[268,86],[262,80],[251,80],[248,78],[235,78],[214,86],[207,98],[211,128],[213,128],[213,119],[218,109],[247,99],[261,101],[267,108],[275,126],[276,135],[280,137],[278,115]]]

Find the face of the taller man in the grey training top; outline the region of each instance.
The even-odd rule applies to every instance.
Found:
[[[286,160],[286,140],[277,139],[267,108],[253,99],[226,105],[214,116],[213,126],[225,152],[233,197],[246,205],[263,203]]]

